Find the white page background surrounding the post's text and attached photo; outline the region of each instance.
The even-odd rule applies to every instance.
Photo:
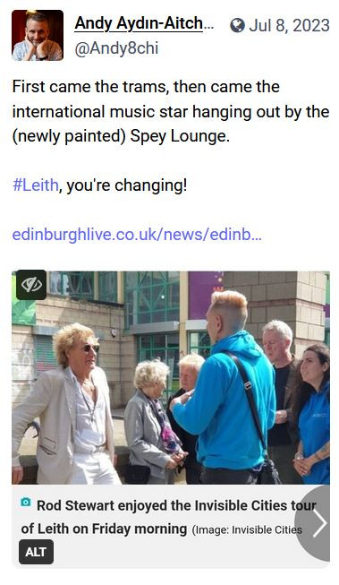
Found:
[[[280,5],[279,5],[280,4]],[[11,13],[13,9],[25,6],[3,2],[1,6],[1,65],[2,76],[2,173],[3,206],[0,216],[2,271],[1,291],[3,299],[3,319],[1,324],[4,353],[4,389],[2,392],[2,412],[4,420],[3,460],[8,462],[10,424],[10,273],[19,268],[43,268],[45,270],[330,270],[333,298],[336,290],[335,262],[335,38],[337,26],[335,11],[330,2],[271,3],[237,2],[221,5],[215,1],[182,3],[123,2],[121,6],[109,2],[72,2],[55,4],[45,2],[46,9],[64,9],[64,61],[61,63],[14,63],[11,59]],[[332,10],[330,11],[330,9]],[[337,12],[337,11],[336,11]],[[197,14],[214,30],[199,34],[152,34],[145,36],[122,34],[96,35],[90,33],[72,34],[78,15],[97,18],[105,14],[114,18],[124,14],[136,18],[141,14],[161,18],[166,14],[191,16]],[[234,34],[229,22],[234,17],[242,17],[246,22],[254,18],[267,20],[284,17],[292,22],[297,17],[331,17],[331,33],[278,33]],[[73,53],[73,47],[81,39],[97,39],[100,43],[113,42],[113,39],[143,40],[157,39],[159,55],[153,57],[89,56],[83,59]],[[109,36],[109,39],[107,37]],[[124,42],[127,42],[124,41]],[[38,73],[37,73],[38,71]],[[320,108],[331,108],[330,120],[306,120],[294,123],[289,120],[269,120],[249,123],[214,120],[197,122],[188,119],[182,122],[182,130],[219,130],[230,133],[230,141],[225,146],[197,144],[146,145],[142,148],[132,145],[129,149],[111,144],[80,144],[64,149],[60,146],[30,144],[15,147],[11,135],[14,127],[9,112],[13,103],[30,104],[36,107],[61,105],[76,102],[94,106],[106,103],[112,106],[127,106],[131,98],[125,94],[95,95],[81,97],[73,94],[15,94],[11,92],[12,79],[24,78],[27,81],[38,79],[50,81],[87,81],[91,79],[114,81],[166,82],[185,79],[191,82],[209,81],[249,81],[266,79],[279,82],[279,94],[228,94],[174,95],[167,98],[138,94],[135,105],[177,104],[189,106],[270,106],[285,103],[294,107],[315,104]],[[157,101],[158,100],[158,101]],[[59,126],[57,129],[78,125],[88,129],[115,126],[111,122],[87,120],[21,121],[30,129]],[[159,120],[134,120],[125,127],[145,127],[152,131],[176,127],[177,122]],[[54,177],[63,180],[90,179],[97,176],[102,180],[114,180],[128,176],[134,180],[156,180],[166,178],[188,179],[185,194],[175,196],[127,194],[77,194],[66,199],[64,195],[14,194],[15,176],[30,179]],[[86,243],[68,245],[48,243],[15,243],[11,234],[14,229],[28,226],[39,228],[76,228],[93,226],[97,229],[139,229],[162,225],[167,229],[223,229],[245,226],[262,237],[261,242],[243,243],[196,243],[187,245],[182,242],[172,244],[149,243]],[[331,339],[335,343],[335,302],[332,303]],[[335,354],[336,355],[336,354]],[[334,397],[335,400],[335,397]],[[336,403],[336,400],[335,400]],[[336,429],[333,429],[336,435]],[[335,437],[336,438],[336,437]],[[336,469],[335,455],[332,458]],[[26,570],[12,569],[10,538],[9,501],[11,490],[8,486],[9,475],[4,474],[2,481],[2,505],[4,511],[2,552],[3,570],[12,572],[12,582],[27,578]],[[333,472],[332,489],[335,493],[336,481]],[[335,497],[333,498],[333,518],[335,518]],[[326,573],[318,571],[296,572],[296,579],[318,582],[324,578],[333,581],[336,560],[335,529],[333,535],[333,561]],[[185,551],[181,551],[184,555]],[[175,554],[171,556],[175,569]],[[194,565],[194,563],[192,563]],[[288,567],[288,557],[282,550],[281,567]],[[23,573],[22,573],[23,571]],[[32,570],[30,579],[41,578]],[[38,570],[39,573],[41,569]],[[51,582],[64,578],[64,571],[53,572],[48,569]],[[85,583],[93,579],[106,579],[97,572],[81,572],[79,578]],[[212,573],[215,579],[239,579],[238,572]],[[231,573],[231,574],[230,574]],[[139,581],[149,578],[162,581],[194,579],[203,582],[208,572],[133,572]],[[74,574],[72,575],[75,576]],[[71,576],[71,578],[72,578]],[[290,577],[282,571],[244,572],[244,579],[285,581]],[[111,578],[127,578],[126,571],[115,571]],[[77,572],[78,578],[78,572]]]

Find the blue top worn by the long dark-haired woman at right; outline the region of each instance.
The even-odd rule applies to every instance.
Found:
[[[299,429],[304,457],[310,457],[329,441],[329,382],[314,391],[301,410]],[[329,457],[315,463],[304,484],[329,484]]]

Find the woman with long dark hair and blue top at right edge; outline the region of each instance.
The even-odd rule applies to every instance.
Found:
[[[293,460],[305,484],[329,484],[330,354],[319,343],[304,351],[295,415],[301,441]]]

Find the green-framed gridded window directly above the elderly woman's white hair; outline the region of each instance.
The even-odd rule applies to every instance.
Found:
[[[179,320],[179,272],[126,272],[126,329]]]

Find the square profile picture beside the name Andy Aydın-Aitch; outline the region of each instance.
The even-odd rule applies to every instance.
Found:
[[[61,61],[64,58],[64,13],[61,10],[14,10],[14,61]]]

